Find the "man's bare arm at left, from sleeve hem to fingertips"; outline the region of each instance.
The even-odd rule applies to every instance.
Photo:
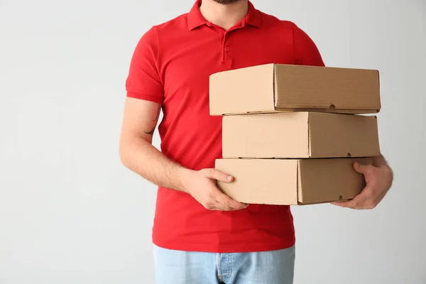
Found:
[[[224,195],[216,180],[232,182],[230,175],[215,169],[189,170],[167,158],[152,145],[160,104],[128,97],[120,138],[122,163],[155,185],[187,192],[206,209],[234,210],[247,207]]]

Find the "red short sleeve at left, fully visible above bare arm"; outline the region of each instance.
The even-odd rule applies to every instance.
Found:
[[[163,82],[158,72],[158,38],[154,28],[139,40],[131,58],[126,80],[127,97],[161,104]]]

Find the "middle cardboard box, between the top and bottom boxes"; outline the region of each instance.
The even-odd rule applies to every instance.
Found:
[[[376,116],[291,112],[224,116],[223,158],[380,155]]]

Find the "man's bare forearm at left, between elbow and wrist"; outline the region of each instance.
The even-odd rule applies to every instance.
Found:
[[[120,157],[126,168],[155,185],[185,192],[184,181],[192,170],[170,160],[148,141],[138,138],[122,141]]]

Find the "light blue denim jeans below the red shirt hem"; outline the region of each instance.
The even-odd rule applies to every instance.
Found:
[[[295,247],[257,253],[173,251],[154,246],[157,284],[292,284]]]

